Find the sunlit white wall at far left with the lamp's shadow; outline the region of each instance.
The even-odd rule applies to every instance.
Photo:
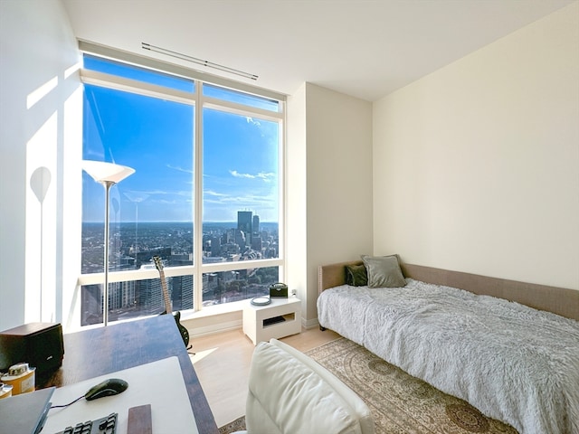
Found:
[[[74,258],[80,247],[75,245],[74,255],[63,263],[74,241],[63,239],[62,226],[80,225],[80,219],[71,223],[74,215],[64,203],[78,198],[74,189],[72,197],[65,196],[69,193],[63,184],[76,180],[80,186],[81,172],[71,168],[81,156],[82,142],[81,94],[74,68],[79,54],[60,1],[2,0],[0,52],[0,330],[4,330],[41,318],[60,321],[62,287],[68,285],[71,290],[65,297],[72,296],[75,282],[63,276],[75,266],[74,276],[78,274],[80,263]],[[65,123],[78,131],[64,128]],[[33,173],[40,167],[50,173],[50,183],[44,176],[35,184],[40,190],[47,187],[42,207],[31,189]]]

